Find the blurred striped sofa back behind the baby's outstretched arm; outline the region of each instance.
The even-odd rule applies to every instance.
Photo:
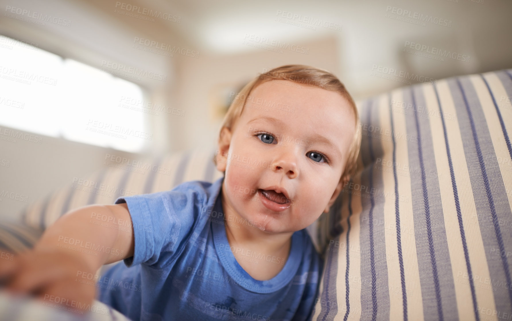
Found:
[[[92,175],[76,177],[73,184],[31,204],[22,214],[24,222],[44,230],[66,212],[89,204],[113,204],[118,197],[173,189],[184,181],[213,182],[222,177],[212,157],[216,148],[169,153],[140,162],[105,161]],[[123,164],[134,164],[126,166]]]

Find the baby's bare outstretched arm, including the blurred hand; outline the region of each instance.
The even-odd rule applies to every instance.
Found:
[[[119,229],[118,222],[127,224]],[[2,262],[0,279],[7,279],[13,292],[35,294],[48,304],[62,304],[55,300],[60,297],[67,305],[74,301],[74,308],[86,310],[96,287],[80,282],[90,281],[81,276],[94,276],[103,264],[133,256],[131,222],[126,203],[71,211],[48,227],[32,250]]]

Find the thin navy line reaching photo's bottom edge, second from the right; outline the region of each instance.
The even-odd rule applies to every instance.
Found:
[[[416,97],[414,96],[414,87],[411,87],[411,98],[413,106],[416,105]],[[416,123],[416,132],[418,135],[418,158],[419,158],[419,166],[421,169],[421,187],[423,190],[423,204],[425,208],[425,220],[426,220],[426,235],[429,241],[429,250],[430,250],[430,261],[432,264],[432,274],[434,277],[434,287],[436,291],[436,301],[437,301],[437,315],[439,320],[444,320],[443,317],[443,308],[441,303],[441,289],[439,287],[439,276],[437,273],[437,264],[436,264],[436,254],[434,252],[434,238],[432,237],[432,219],[430,217],[430,205],[429,205],[429,194],[426,190],[426,177],[425,177],[425,165],[423,164],[423,148],[421,146],[421,131],[419,128],[418,121],[418,111],[417,108],[413,108],[414,110],[414,120]],[[404,292],[405,293],[405,292]]]

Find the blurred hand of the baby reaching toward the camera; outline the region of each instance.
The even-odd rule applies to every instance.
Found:
[[[79,273],[95,273],[78,253],[29,250],[0,262],[0,285],[17,294],[32,294],[47,306],[87,312],[95,297],[94,285],[78,282]]]

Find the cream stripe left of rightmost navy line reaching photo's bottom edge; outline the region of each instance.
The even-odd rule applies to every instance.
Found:
[[[449,88],[444,87],[445,82],[441,81],[438,84],[439,96],[443,103],[444,122],[447,128],[455,128],[458,131],[458,124],[455,124],[455,110],[453,110],[453,101],[450,95]],[[428,114],[433,114],[439,111],[436,94],[434,87],[424,87],[424,97]],[[452,102],[452,108],[447,106],[447,101]],[[441,196],[441,203],[443,208],[444,227],[446,232],[446,241],[448,243],[448,250],[450,253],[450,261],[452,265],[452,274],[455,277],[459,271],[466,271],[466,264],[464,259],[464,250],[462,247],[462,238],[460,236],[459,223],[457,220],[457,210],[455,208],[455,197],[452,188],[452,181],[450,176],[450,167],[448,164],[448,155],[446,153],[446,144],[444,144],[444,134],[441,118],[430,117],[430,131],[432,132],[432,141],[434,144],[434,157],[436,159],[436,168],[439,173],[439,190]],[[453,157],[454,155],[452,155]],[[469,284],[460,282],[454,283],[455,297],[457,301],[457,312],[460,320],[475,320],[475,313],[471,308],[473,306],[471,298],[471,289]],[[468,308],[470,307],[470,308]],[[450,308],[450,307],[448,307]]]

